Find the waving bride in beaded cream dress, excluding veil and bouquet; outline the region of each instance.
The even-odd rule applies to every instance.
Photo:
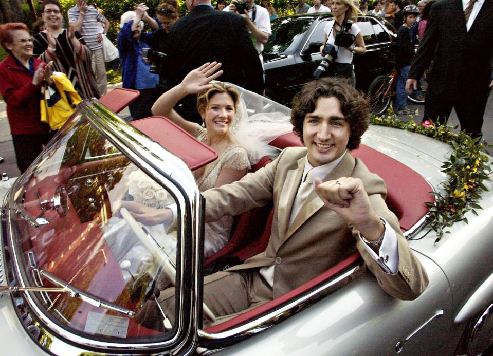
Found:
[[[215,82],[223,73],[220,63],[206,63],[192,70],[180,84],[165,92],[152,106],[153,115],[164,116],[213,148],[219,157],[206,166],[194,171],[198,189],[207,189],[229,184],[241,179],[250,168],[248,153],[235,139],[231,128],[237,124],[240,95],[232,86]],[[185,120],[173,107],[190,94],[197,94],[197,109],[205,128]],[[204,258],[222,249],[231,238],[232,216],[225,216],[205,227]]]

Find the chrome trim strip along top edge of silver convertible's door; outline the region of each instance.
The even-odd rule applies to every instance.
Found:
[[[356,266],[353,266],[348,270],[342,272],[337,277],[328,280],[327,282],[319,286],[316,286],[313,290],[296,297],[292,301],[288,302],[286,305],[272,310],[266,315],[255,318],[254,320],[247,322],[246,324],[218,333],[209,333],[202,329],[199,329],[199,345],[205,348],[215,349],[229,346],[244,339],[250,338],[250,336],[262,332],[280,323],[287,317],[313,305],[320,298],[329,294],[331,292],[331,287],[341,282],[341,280],[343,280],[344,278],[347,278],[353,275],[355,272],[359,271],[362,266],[363,263],[361,262],[361,260],[358,260]]]

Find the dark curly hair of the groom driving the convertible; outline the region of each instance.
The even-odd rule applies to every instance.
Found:
[[[353,88],[348,79],[325,77],[306,83],[291,102],[293,131],[303,142],[303,122],[313,113],[319,98],[336,98],[350,125],[348,149],[356,149],[370,123],[370,106],[363,93]]]

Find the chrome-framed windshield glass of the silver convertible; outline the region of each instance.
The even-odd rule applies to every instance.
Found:
[[[20,285],[45,289],[29,295],[51,323],[103,342],[163,334],[136,320],[156,286],[175,284],[164,270],[175,265],[181,230],[142,224],[120,207],[164,209],[179,199],[170,186],[80,114],[50,142],[13,187],[10,234]]]

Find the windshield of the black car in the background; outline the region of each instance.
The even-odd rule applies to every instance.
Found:
[[[291,54],[303,39],[313,18],[288,17],[272,21],[272,35],[264,45],[264,53]]]

